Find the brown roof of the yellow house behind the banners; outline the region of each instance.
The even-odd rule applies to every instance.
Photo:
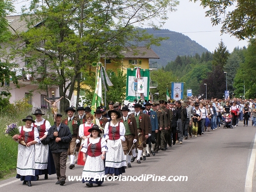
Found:
[[[160,58],[151,48],[147,47],[124,47],[120,52],[124,58]],[[105,57],[107,55],[102,55]],[[114,55],[108,55],[107,57],[115,58]]]

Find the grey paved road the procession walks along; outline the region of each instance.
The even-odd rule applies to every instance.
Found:
[[[80,181],[66,180],[64,186],[55,185],[56,176],[50,175],[48,180],[41,176],[39,181],[32,182],[32,187],[23,186],[16,178],[3,180],[0,191],[255,192],[255,135],[256,128],[243,127],[239,122],[233,129],[221,128],[183,140],[183,144],[147,157],[140,165],[132,163],[132,168],[126,169],[123,175],[187,176],[187,181],[105,181],[101,187],[88,189]],[[82,170],[82,166],[76,166],[67,169],[66,175],[80,176]]]

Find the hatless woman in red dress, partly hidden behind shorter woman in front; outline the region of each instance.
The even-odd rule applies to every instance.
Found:
[[[84,140],[86,140],[86,138],[90,137],[90,132],[88,132],[88,130],[90,128],[93,127],[94,123],[92,122],[93,120],[93,115],[92,114],[87,114],[86,115],[86,122],[84,122],[83,124],[79,125],[79,137],[81,137],[82,142],[81,145],[84,144]],[[83,161],[83,153],[82,151],[79,152],[78,154],[78,158],[77,158],[77,164],[84,166],[84,161]]]

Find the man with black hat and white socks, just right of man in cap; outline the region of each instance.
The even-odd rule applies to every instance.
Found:
[[[79,125],[80,119],[77,116],[74,116],[76,110],[72,107],[66,109],[67,117],[62,121],[63,124],[67,125],[70,128],[70,132],[72,134],[72,141],[70,142],[70,147],[67,150],[68,158],[70,159],[69,169],[73,169],[75,167],[75,152],[76,145],[80,143],[81,138],[79,137]]]

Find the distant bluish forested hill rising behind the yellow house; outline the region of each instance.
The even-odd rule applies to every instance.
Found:
[[[155,36],[169,37],[168,40],[161,41],[161,46],[152,46],[151,49],[160,57],[160,59],[154,60],[158,62],[158,66],[165,67],[168,62],[174,61],[177,55],[191,55],[194,56],[196,53],[201,55],[206,52],[207,49],[202,47],[195,41],[192,41],[188,36],[182,33],[173,32],[169,29],[154,30],[152,28],[146,28],[149,34]]]

